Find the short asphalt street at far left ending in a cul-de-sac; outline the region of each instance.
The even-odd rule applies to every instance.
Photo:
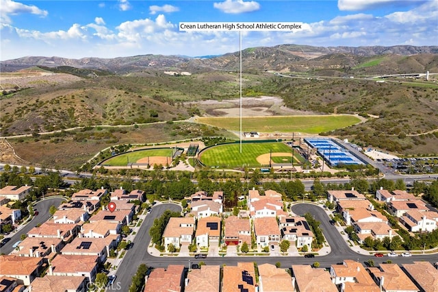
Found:
[[[14,250],[14,247],[12,247],[12,245],[14,245],[14,243],[16,243],[17,241],[21,240],[21,234],[27,234],[27,232],[29,232],[32,228],[34,228],[38,224],[42,224],[45,221],[49,220],[49,218],[51,217],[49,212],[50,206],[52,205],[56,207],[60,206],[60,204],[64,200],[65,199],[62,197],[54,197],[54,198],[47,198],[36,203],[34,206],[34,210],[38,210],[39,213],[38,216],[34,216],[34,218],[32,218],[31,221],[29,221],[29,223],[27,223],[23,227],[19,227],[17,232],[13,232],[13,235],[10,236],[11,240],[0,248],[0,252],[4,254],[10,254],[10,252]]]

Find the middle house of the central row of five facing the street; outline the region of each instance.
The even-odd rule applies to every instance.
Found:
[[[225,218],[224,231],[226,245],[241,245],[244,242],[251,243],[251,223],[249,219],[229,216]]]

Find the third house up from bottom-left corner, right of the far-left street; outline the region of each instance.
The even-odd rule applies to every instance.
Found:
[[[62,247],[64,247],[64,241],[59,238],[40,239],[38,237],[26,237],[18,245],[18,250],[13,251],[13,254],[42,258],[49,256],[51,253],[54,256]]]

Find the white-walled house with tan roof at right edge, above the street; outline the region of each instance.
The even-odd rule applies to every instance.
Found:
[[[400,217],[402,223],[411,232],[432,232],[437,229],[438,212],[420,212],[411,210]]]

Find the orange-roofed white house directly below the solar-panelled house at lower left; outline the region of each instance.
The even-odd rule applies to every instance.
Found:
[[[97,256],[58,254],[51,260],[48,274],[50,276],[85,276],[88,282],[94,282],[97,267]]]

